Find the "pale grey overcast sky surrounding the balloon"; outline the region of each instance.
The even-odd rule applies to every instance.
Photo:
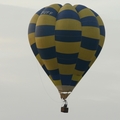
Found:
[[[39,66],[27,30],[33,14],[53,3],[83,4],[105,24],[103,50],[68,98],[69,113],[57,89]],[[0,120],[119,120],[119,0],[0,1]]]

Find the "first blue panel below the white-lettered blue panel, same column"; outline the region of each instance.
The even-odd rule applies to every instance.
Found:
[[[35,37],[50,36],[55,33],[55,26],[52,25],[41,25],[36,26]]]

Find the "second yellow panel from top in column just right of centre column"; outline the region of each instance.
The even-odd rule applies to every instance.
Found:
[[[100,30],[97,27],[82,27],[82,36],[94,38],[94,39],[100,39]]]

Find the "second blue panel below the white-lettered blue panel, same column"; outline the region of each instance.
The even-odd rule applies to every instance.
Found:
[[[42,59],[51,59],[56,57],[55,47],[38,49],[38,52]]]

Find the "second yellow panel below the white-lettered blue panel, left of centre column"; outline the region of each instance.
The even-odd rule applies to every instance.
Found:
[[[49,48],[55,46],[54,35],[35,38],[37,48]]]

